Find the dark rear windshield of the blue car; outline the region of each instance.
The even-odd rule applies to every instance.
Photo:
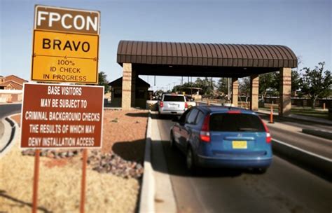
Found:
[[[250,114],[212,114],[209,127],[219,132],[265,132],[261,119]]]

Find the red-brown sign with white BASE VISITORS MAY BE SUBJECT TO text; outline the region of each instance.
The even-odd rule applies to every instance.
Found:
[[[104,87],[25,83],[21,148],[100,148]]]

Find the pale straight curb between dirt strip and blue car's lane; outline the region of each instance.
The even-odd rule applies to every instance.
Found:
[[[146,130],[146,143],[144,154],[144,173],[139,198],[139,212],[155,212],[154,192],[155,180],[151,165],[151,111],[148,112],[148,128]]]

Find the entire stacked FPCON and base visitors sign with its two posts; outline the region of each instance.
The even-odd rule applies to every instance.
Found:
[[[99,11],[35,6],[32,81],[97,84]],[[104,87],[24,84],[21,148],[36,149],[32,212],[37,210],[40,149],[83,149],[84,212],[88,148],[102,146]]]

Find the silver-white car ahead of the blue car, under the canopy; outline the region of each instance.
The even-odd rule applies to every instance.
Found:
[[[163,94],[158,102],[158,111],[160,115],[181,116],[188,109],[186,97],[178,94]]]

